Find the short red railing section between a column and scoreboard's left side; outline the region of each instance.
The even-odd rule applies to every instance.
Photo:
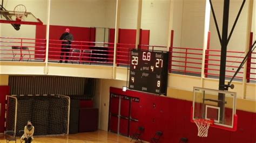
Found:
[[[117,54],[116,54],[116,64],[117,66],[129,65],[129,53],[132,49],[136,48],[135,44],[120,44],[117,43]]]

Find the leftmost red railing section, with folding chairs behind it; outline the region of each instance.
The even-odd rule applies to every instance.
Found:
[[[1,61],[45,61],[45,39],[0,37]]]

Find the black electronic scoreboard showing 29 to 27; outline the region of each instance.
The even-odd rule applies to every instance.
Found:
[[[129,89],[166,95],[169,53],[133,49],[130,53]]]

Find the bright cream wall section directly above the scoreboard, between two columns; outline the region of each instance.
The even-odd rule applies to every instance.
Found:
[[[150,45],[167,46],[169,14],[170,0],[143,0],[141,28],[150,30]]]

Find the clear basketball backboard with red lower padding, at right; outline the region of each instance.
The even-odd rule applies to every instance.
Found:
[[[236,97],[235,92],[194,87],[191,121],[213,120],[211,127],[229,131],[237,130]]]

